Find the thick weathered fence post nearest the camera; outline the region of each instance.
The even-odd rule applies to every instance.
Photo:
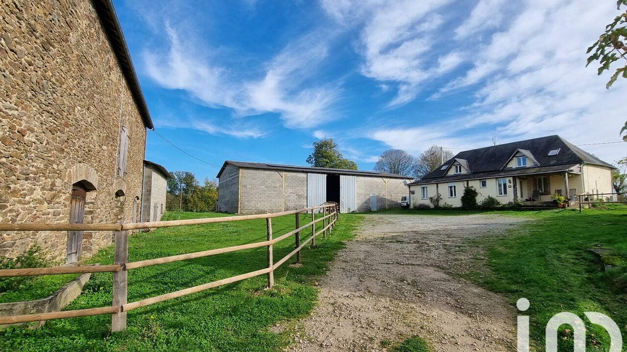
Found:
[[[128,274],[126,263],[129,261],[129,231],[115,231],[115,248],[113,249],[113,264],[119,264],[120,271],[113,272],[113,307],[127,303]],[[126,312],[112,314],[111,331],[126,329]]]

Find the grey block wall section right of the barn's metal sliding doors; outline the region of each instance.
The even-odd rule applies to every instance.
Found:
[[[387,194],[384,180],[387,180]],[[357,176],[357,212],[370,210],[371,194],[377,195],[378,209],[386,209],[386,199],[388,208],[400,207],[401,197],[409,194],[409,189],[403,181],[404,179]]]

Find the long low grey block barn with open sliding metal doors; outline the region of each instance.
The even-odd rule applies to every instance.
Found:
[[[337,202],[340,212],[401,206],[411,177],[394,173],[227,160],[218,173],[218,211],[261,214]]]

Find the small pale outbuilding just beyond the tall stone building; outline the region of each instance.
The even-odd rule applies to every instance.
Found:
[[[172,175],[158,163],[144,160],[144,192],[142,222],[159,221],[166,212],[167,179]]]

